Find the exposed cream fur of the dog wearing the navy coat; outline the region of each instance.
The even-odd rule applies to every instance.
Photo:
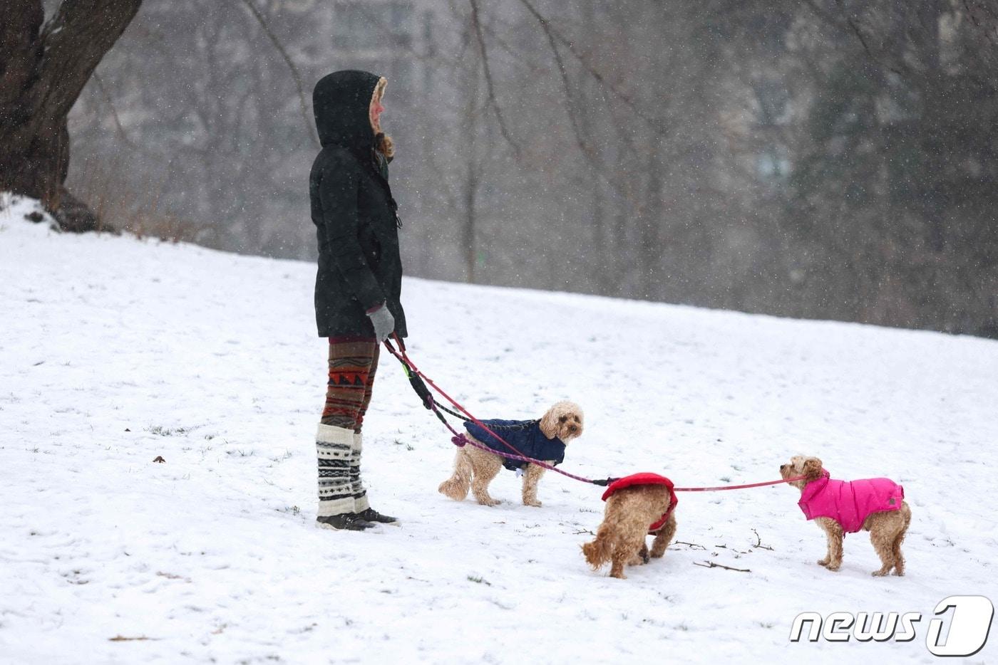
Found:
[[[584,427],[582,409],[573,402],[558,402],[541,417],[540,427],[548,439],[558,437],[568,445],[570,441],[582,435]],[[501,436],[502,433],[498,434]],[[481,444],[470,434],[466,436],[471,441]],[[497,505],[502,501],[493,499],[489,495],[489,484],[502,471],[502,462],[503,458],[500,456],[474,446],[459,448],[454,455],[454,473],[440,484],[438,491],[446,497],[460,501],[468,496],[470,490],[475,500],[482,505]],[[542,460],[542,462],[550,464],[552,461]],[[523,475],[524,505],[541,506],[541,501],[537,500],[537,484],[545,471],[543,467],[527,465],[526,473]]]

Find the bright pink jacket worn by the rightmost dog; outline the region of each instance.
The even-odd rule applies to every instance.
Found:
[[[885,478],[864,481],[832,481],[821,470],[821,478],[804,486],[797,505],[808,519],[831,517],[846,533],[855,533],[871,512],[901,509],[904,488]]]

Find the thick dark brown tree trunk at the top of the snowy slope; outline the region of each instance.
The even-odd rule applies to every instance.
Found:
[[[63,185],[70,155],[66,119],[142,0],[63,0],[48,23],[42,0],[4,4],[0,190],[41,199],[66,230],[91,230],[96,215]]]

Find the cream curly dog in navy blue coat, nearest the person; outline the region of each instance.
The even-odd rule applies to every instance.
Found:
[[[513,450],[515,448],[521,457],[546,462],[552,466],[560,464],[565,460],[565,446],[582,434],[582,409],[573,402],[558,402],[537,420],[496,419],[480,422],[509,446],[492,436],[478,423],[473,421],[465,423],[468,440],[489,450],[468,445],[457,449],[457,454],[454,456],[454,474],[440,484],[440,494],[460,501],[468,496],[470,490],[482,505],[496,505],[501,501],[489,496],[489,484],[505,467],[510,471],[522,471],[524,505],[540,507],[541,502],[537,500],[537,484],[546,470],[522,460],[505,458],[500,453],[516,455]]]

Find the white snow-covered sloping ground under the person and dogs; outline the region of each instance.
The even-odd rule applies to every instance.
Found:
[[[386,355],[364,473],[404,525],[314,528],[314,267],[29,209],[0,212],[4,663],[930,662],[939,600],[998,600],[994,341],[408,279],[412,358],[476,415],[584,407],[564,469],[713,486],[806,453],[913,512],[907,575],[873,578],[862,533],[841,571],[815,564],[792,489],[685,494],[680,542],[617,580],[579,550],[599,488],[437,494],[452,446]],[[923,618],[907,643],[791,643],[802,611]]]

